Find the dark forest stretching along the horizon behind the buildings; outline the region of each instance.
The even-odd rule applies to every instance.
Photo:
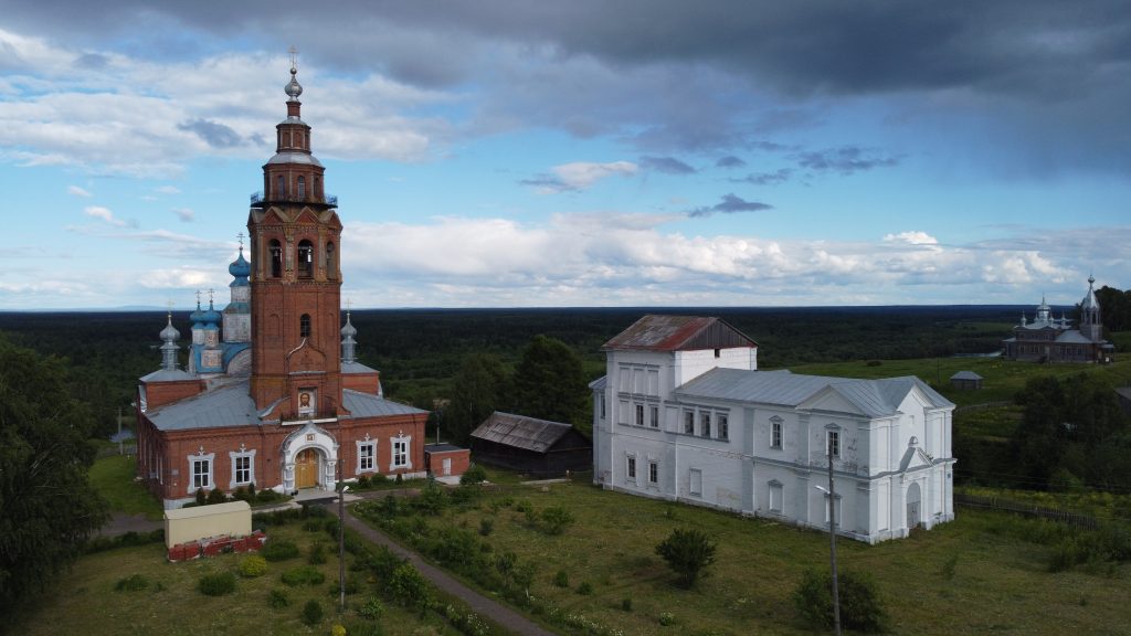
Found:
[[[1121,307],[1113,300],[1119,290],[1107,290],[1097,291],[1105,320],[1117,318]],[[566,343],[586,380],[595,379],[604,373],[601,346],[645,313],[718,316],[759,344],[759,367],[775,369],[992,353],[1022,311],[1031,315],[1033,307],[394,309],[355,310],[351,319],[357,358],[381,371],[386,394],[432,410],[437,399],[454,397],[467,356],[492,355],[509,375],[537,335]],[[188,313],[173,315],[182,366]],[[0,333],[14,343],[69,361],[72,395],[90,406],[100,433],[114,429],[119,409],[129,412],[137,379],[159,367],[164,326],[161,311],[0,313]]]

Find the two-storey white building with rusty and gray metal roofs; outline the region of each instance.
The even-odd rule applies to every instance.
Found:
[[[717,318],[645,316],[608,341],[594,381],[594,482],[828,527],[874,543],[955,518],[951,412],[915,377],[758,371],[758,345]]]

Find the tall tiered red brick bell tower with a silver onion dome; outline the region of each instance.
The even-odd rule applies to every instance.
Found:
[[[264,165],[262,197],[253,196],[251,237],[251,397],[266,419],[334,418],[342,407],[337,354],[342,222],[325,169],[310,153],[300,115],[302,86],[294,50],[286,119]]]

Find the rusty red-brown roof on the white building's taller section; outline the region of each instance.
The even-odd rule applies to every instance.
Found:
[[[705,316],[649,313],[605,343],[602,351],[699,351],[758,343],[726,320]]]

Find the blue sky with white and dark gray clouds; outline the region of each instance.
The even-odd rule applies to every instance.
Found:
[[[0,310],[225,304],[292,46],[354,308],[1131,287],[1124,0],[14,5]]]

